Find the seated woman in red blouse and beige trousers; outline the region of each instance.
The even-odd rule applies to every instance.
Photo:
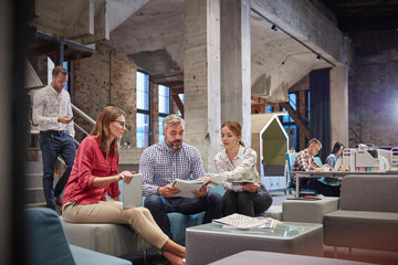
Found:
[[[146,208],[123,210],[118,181],[129,183],[133,173],[118,173],[119,139],[125,127],[125,113],[105,107],[91,136],[80,145],[65,187],[62,211],[71,223],[125,223],[156,247],[171,264],[184,264],[186,250],[163,233]],[[106,200],[108,194],[113,200]]]

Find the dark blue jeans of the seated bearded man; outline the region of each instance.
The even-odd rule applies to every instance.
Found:
[[[164,198],[158,194],[150,194],[145,199],[144,205],[149,209],[161,231],[172,239],[167,213],[196,214],[206,211],[202,223],[210,223],[212,219],[221,218],[222,198],[213,192],[209,192],[202,198],[193,197],[192,199],[182,197]]]

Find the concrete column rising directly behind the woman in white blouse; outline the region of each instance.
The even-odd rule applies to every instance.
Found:
[[[223,0],[221,10],[221,124],[238,120],[251,142],[250,0]]]

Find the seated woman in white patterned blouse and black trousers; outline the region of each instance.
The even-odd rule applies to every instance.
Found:
[[[238,121],[227,121],[221,126],[224,150],[216,155],[214,162],[224,178],[222,215],[240,213],[255,216],[266,211],[272,198],[261,182],[255,169],[256,153],[241,141],[242,127]]]

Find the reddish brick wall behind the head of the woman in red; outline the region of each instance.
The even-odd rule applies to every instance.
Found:
[[[95,45],[95,54],[74,61],[72,71],[72,103],[93,119],[96,119],[107,105],[115,105],[125,110],[127,130],[122,142],[134,147],[137,66],[107,42],[98,42]],[[86,131],[91,131],[92,126],[88,123],[83,123],[80,117],[76,121],[82,124]]]

